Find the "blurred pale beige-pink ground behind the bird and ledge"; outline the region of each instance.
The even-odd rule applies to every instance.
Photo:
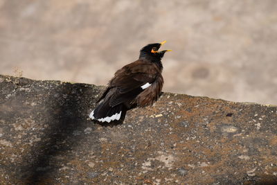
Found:
[[[1,74],[106,85],[163,40],[163,91],[277,105],[275,0],[0,0]]]

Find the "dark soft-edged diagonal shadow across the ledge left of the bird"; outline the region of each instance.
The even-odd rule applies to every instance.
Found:
[[[84,130],[91,121],[87,121],[87,106],[83,94],[89,93],[89,88],[82,84],[63,83],[57,86],[47,97],[44,108],[48,125],[43,131],[41,141],[33,146],[30,155],[26,157],[26,165],[21,168],[22,179],[27,184],[47,184],[48,178],[55,177],[57,157],[62,157],[70,152],[84,134],[75,134],[75,131]],[[93,127],[93,126],[92,126]]]

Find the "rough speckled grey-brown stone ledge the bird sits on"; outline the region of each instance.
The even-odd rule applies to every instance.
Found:
[[[0,184],[277,182],[277,107],[164,93],[99,125],[102,90],[0,76]]]

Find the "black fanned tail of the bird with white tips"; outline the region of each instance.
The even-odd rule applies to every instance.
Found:
[[[109,123],[111,121],[123,120],[126,112],[127,109],[125,105],[119,104],[114,107],[110,107],[109,103],[104,101],[93,109],[91,114],[89,114],[89,118]]]

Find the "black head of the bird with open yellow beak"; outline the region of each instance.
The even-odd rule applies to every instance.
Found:
[[[172,51],[172,50],[159,51],[161,45],[165,43],[166,43],[166,40],[161,43],[148,44],[147,46],[144,46],[143,49],[141,49],[141,55],[139,55],[139,58],[148,58],[150,60],[160,61],[161,58],[163,58],[163,55],[167,51]]]

